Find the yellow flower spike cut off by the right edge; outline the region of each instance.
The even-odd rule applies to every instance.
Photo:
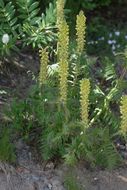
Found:
[[[124,95],[121,100],[120,106],[121,113],[121,133],[126,137],[127,136],[127,95]]]

